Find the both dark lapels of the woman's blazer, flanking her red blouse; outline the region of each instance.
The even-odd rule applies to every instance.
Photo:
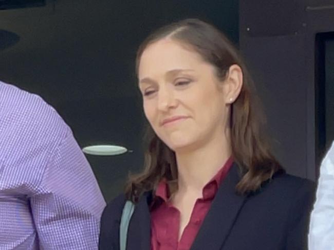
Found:
[[[240,180],[238,170],[237,164],[233,163],[229,174],[219,186],[191,250],[218,250],[224,245],[246,198],[235,193],[235,186]],[[151,249],[151,216],[149,209],[151,202],[152,192],[147,192],[136,204],[128,229],[127,250]]]

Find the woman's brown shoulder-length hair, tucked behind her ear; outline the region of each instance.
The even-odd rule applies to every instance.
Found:
[[[263,182],[283,168],[270,151],[268,138],[263,130],[264,115],[244,60],[217,28],[198,19],[184,19],[158,29],[143,41],[137,52],[137,75],[145,48],[163,38],[175,40],[197,52],[215,67],[221,80],[225,79],[230,66],[236,64],[242,69],[243,87],[231,105],[230,112],[232,156],[242,173],[236,192],[245,195],[257,191]],[[155,134],[150,125],[147,126],[146,137],[148,145],[144,170],[130,175],[125,189],[126,197],[134,202],[144,192],[155,191],[163,178],[168,181],[171,194],[177,190],[175,153]]]

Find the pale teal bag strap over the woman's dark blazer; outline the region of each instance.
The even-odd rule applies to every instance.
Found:
[[[135,204],[132,201],[127,200],[123,207],[121,224],[119,228],[120,250],[126,250],[127,230],[134,211],[135,211]]]

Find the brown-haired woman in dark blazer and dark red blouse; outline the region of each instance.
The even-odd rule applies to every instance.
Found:
[[[309,181],[271,154],[236,49],[211,25],[186,19],[149,36],[137,54],[150,123],[145,169],[101,219],[100,249],[304,249]]]

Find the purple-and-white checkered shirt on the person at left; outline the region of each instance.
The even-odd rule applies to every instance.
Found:
[[[0,250],[98,249],[104,206],[57,112],[0,82]]]

